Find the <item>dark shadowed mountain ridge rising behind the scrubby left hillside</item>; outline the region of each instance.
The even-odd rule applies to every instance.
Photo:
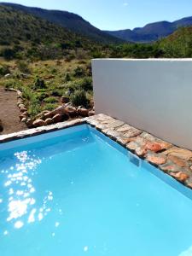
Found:
[[[49,20],[56,25],[67,28],[68,30],[79,33],[87,38],[91,38],[101,43],[120,43],[122,39],[113,37],[106,32],[102,32],[81,16],[61,10],[48,10],[40,8],[26,7],[15,3],[0,3],[3,6],[12,7],[17,10],[24,11],[28,14],[38,16],[44,20]]]

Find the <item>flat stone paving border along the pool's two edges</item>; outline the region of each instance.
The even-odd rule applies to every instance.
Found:
[[[75,119],[2,135],[0,136],[0,146],[1,143],[83,124],[95,127],[96,130],[101,131],[113,141],[137,154],[141,159],[147,160],[153,166],[158,167],[161,171],[166,172],[166,174],[177,179],[178,182],[192,189],[192,151],[166,143],[148,132],[138,130],[102,113],[84,119]]]

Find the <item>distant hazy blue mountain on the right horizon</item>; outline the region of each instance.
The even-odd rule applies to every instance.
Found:
[[[150,23],[133,30],[106,31],[108,34],[125,41],[137,43],[150,43],[165,38],[175,32],[179,27],[192,26],[192,17],[183,18],[174,22],[160,21]]]

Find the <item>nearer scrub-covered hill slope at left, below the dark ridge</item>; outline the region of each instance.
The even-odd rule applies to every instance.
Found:
[[[73,59],[78,50],[85,55],[101,47],[48,20],[1,4],[0,26],[0,56],[6,59]]]

